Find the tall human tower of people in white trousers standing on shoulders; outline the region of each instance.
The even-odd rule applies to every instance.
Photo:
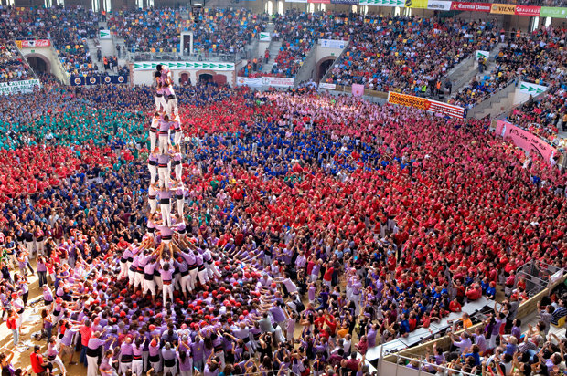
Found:
[[[162,291],[166,306],[167,301],[174,302],[174,288],[187,298],[187,293],[193,292],[199,283],[204,286],[220,274],[211,251],[201,249],[187,239],[184,216],[187,188],[182,180],[180,149],[183,131],[177,98],[169,68],[158,65],[154,77],[156,94],[148,157],[147,235],[141,246],[125,250],[121,259],[121,277],[128,277],[130,287],[141,289],[144,295],[150,294],[152,300]],[[172,213],[174,199],[177,212]],[[183,258],[183,262],[177,262],[174,255]]]

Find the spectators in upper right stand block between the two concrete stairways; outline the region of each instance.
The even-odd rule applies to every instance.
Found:
[[[477,75],[451,102],[472,108],[515,80],[548,85],[561,80],[567,61],[564,36],[561,28],[543,27],[527,36],[509,37],[496,57],[496,67]]]

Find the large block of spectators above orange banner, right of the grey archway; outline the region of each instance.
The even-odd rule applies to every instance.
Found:
[[[382,91],[433,92],[458,62],[497,43],[492,21],[351,15],[347,27],[348,51],[327,82]]]

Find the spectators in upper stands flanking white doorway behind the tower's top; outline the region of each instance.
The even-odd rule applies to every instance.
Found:
[[[258,16],[246,9],[210,8],[208,13],[195,16],[194,22],[185,19],[183,11],[166,8],[114,12],[108,21],[111,31],[124,38],[129,51],[179,51],[180,32],[193,31],[195,52],[205,56],[242,51],[264,27]]]

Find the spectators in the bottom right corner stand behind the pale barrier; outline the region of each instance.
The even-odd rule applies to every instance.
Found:
[[[540,320],[522,330],[521,320],[509,320],[509,306],[517,308],[518,305],[507,301],[503,309],[495,308],[479,328],[465,329],[459,336],[451,335],[450,350],[433,346],[423,362],[409,360],[406,366],[432,374],[446,371],[482,376],[562,374],[565,372],[567,339],[564,333],[551,329],[567,314],[566,302],[564,289],[558,289],[550,298],[542,298],[538,302]],[[502,313],[508,316],[504,320]],[[491,346],[494,342],[496,345]]]

